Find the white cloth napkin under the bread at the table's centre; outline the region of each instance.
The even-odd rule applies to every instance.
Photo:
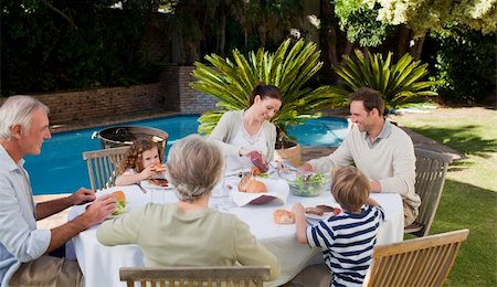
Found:
[[[231,199],[233,202],[243,206],[248,204],[251,201],[258,199],[261,196],[273,196],[274,200],[278,201],[281,204],[285,204],[289,193],[288,182],[282,179],[262,179],[257,178],[258,181],[262,181],[266,184],[267,192],[263,193],[246,193],[239,191],[239,182],[233,185],[233,190],[231,192]]]

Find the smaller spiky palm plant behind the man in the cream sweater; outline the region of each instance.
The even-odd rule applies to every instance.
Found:
[[[422,82],[427,71],[427,64],[414,61],[409,54],[404,54],[399,62],[392,64],[392,52],[383,60],[381,54],[368,52],[367,56],[356,50],[356,56],[345,56],[343,63],[335,67],[335,72],[345,81],[346,88],[340,88],[340,94],[349,95],[361,87],[370,87],[383,95],[385,113],[406,104],[420,103],[427,96],[438,94],[430,91],[436,82]]]

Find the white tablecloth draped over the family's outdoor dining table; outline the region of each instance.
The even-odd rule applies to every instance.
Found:
[[[162,201],[177,202],[172,190],[148,190],[141,192],[138,187],[116,187],[99,192],[105,194],[114,190],[123,190],[130,209],[145,205],[147,202]],[[403,240],[403,210],[402,200],[394,193],[374,193],[376,199],[384,209],[387,222],[380,227],[378,243],[393,243]],[[216,199],[212,199],[215,203]],[[289,281],[295,275],[311,263],[320,259],[320,249],[311,249],[307,244],[300,244],[295,236],[295,225],[277,225],[273,222],[273,211],[276,209],[292,210],[295,202],[302,202],[305,206],[328,204],[337,206],[329,192],[316,198],[302,198],[289,195],[286,204],[268,202],[261,205],[248,204],[237,208],[234,204],[228,212],[236,214],[246,222],[255,237],[269,252],[272,252],[282,265],[282,274],[264,286],[279,286]],[[83,206],[75,206],[70,212],[70,220],[83,212]],[[85,286],[126,286],[119,280],[119,267],[144,266],[144,255],[138,245],[121,245],[107,247],[96,240],[96,226],[82,232],[73,238],[75,256],[85,277]]]

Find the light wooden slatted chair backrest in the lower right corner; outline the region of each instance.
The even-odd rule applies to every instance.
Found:
[[[442,286],[468,234],[459,230],[377,245],[363,286]]]

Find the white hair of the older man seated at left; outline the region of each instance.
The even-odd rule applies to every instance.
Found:
[[[0,107],[0,138],[10,140],[12,137],[12,127],[15,125],[21,125],[22,129],[29,129],[31,115],[39,108],[49,114],[49,107],[33,97],[9,97]]]

